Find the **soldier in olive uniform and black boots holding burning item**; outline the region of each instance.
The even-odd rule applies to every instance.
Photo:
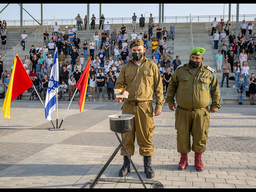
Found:
[[[151,165],[151,156],[154,155],[154,145],[152,137],[154,134],[154,115],[158,116],[162,112],[164,104],[163,86],[157,65],[149,61],[144,53],[146,47],[140,39],[134,39],[130,44],[132,59],[123,67],[116,81],[116,88],[126,85],[129,92],[127,99],[124,99],[122,114],[133,114],[132,132],[124,142],[124,146],[130,156],[134,155],[134,141],[137,138],[140,146],[140,155],[144,156],[144,172],[147,178],[154,178],[154,170]],[[152,100],[156,96],[155,110]],[[121,103],[122,98],[116,98],[116,102]],[[124,137],[127,135],[124,134]],[[121,149],[124,156],[124,166],[120,169],[119,176],[123,177],[130,172],[130,161]]]

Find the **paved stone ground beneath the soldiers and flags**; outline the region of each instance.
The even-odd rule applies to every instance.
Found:
[[[67,102],[59,102],[59,119],[67,106]],[[65,130],[49,131],[52,125],[44,118],[40,102],[14,100],[11,120],[0,112],[0,188],[83,188],[119,144],[109,129],[107,116],[120,113],[121,106],[114,102],[86,102],[80,113],[74,102],[63,122]],[[54,113],[52,117],[55,116]],[[162,114],[155,118],[154,180],[165,188],[256,188],[255,106],[223,105],[217,113],[210,114],[203,172],[194,167],[194,152],[188,155],[186,170],[177,169],[180,157],[174,122],[174,112],[164,104]],[[138,145],[132,160],[146,179]],[[102,178],[119,178],[122,162],[118,152]],[[138,179],[133,168],[128,178]],[[95,188],[142,188],[142,184],[98,182]]]

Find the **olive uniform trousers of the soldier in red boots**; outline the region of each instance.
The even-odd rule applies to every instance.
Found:
[[[177,130],[177,150],[179,153],[188,153],[190,150],[202,153],[206,150],[208,129],[210,126],[209,109],[197,111],[182,109],[179,106],[175,112],[175,129]],[[192,148],[190,145],[192,135]]]

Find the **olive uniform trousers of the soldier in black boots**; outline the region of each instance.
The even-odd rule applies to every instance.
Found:
[[[130,156],[134,155],[134,142],[135,137],[137,138],[137,143],[140,147],[141,156],[153,156],[154,155],[154,145],[152,145],[151,139],[154,134],[154,108],[151,101],[148,102],[124,102],[122,107],[122,114],[133,114],[133,127],[127,140],[124,142],[124,147],[126,148]],[[122,139],[128,134],[124,133]],[[125,155],[123,149],[121,148],[121,155]]]

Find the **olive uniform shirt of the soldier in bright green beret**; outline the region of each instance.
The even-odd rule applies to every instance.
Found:
[[[211,81],[212,72],[214,77]],[[210,88],[210,91],[206,90],[206,86],[208,89]],[[218,80],[214,70],[204,64],[201,64],[196,76],[188,63],[177,67],[172,75],[167,93],[166,102],[169,105],[174,104],[176,94],[176,102],[182,108],[204,108],[208,106],[211,98],[211,107],[220,108]]]

